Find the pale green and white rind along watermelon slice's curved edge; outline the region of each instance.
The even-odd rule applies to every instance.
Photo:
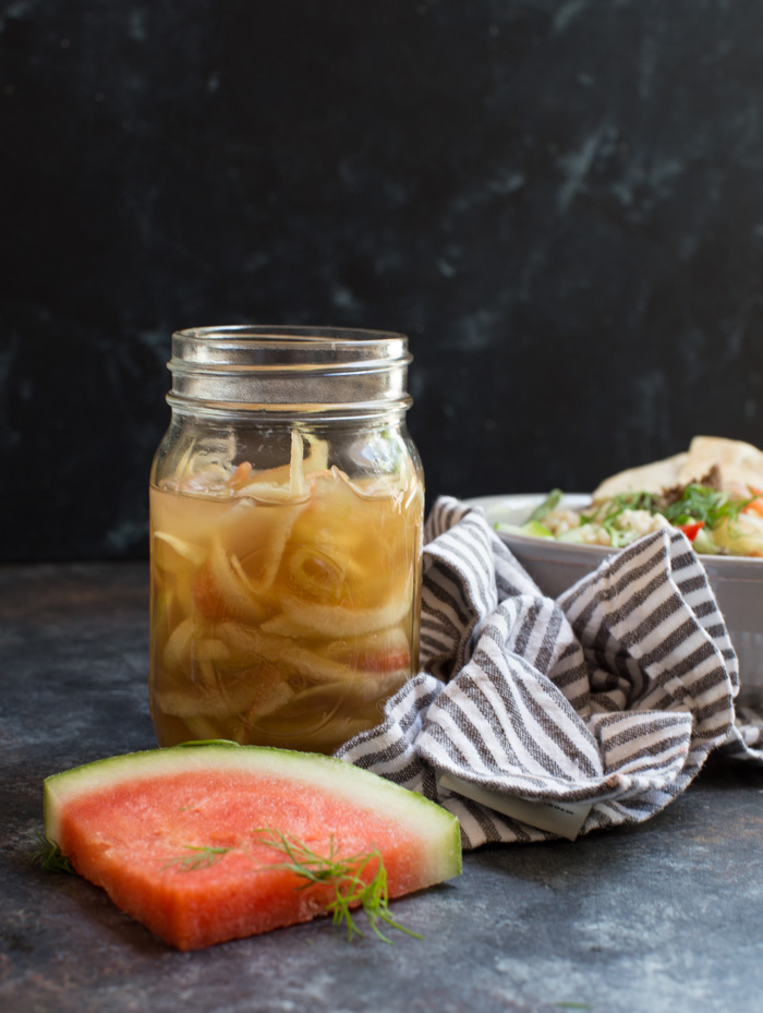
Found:
[[[443,882],[462,870],[458,819],[417,792],[387,781],[371,771],[323,753],[296,752],[268,746],[234,743],[183,744],[94,760],[44,782],[45,833],[58,842],[59,817],[65,805],[83,795],[140,777],[187,771],[243,770],[272,774],[292,784],[341,797],[359,809],[373,809],[392,822],[412,828],[432,842],[427,879]]]

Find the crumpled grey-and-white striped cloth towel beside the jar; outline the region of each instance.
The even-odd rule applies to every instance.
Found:
[[[421,666],[337,755],[440,803],[467,848],[642,822],[715,748],[763,761],[761,725],[735,722],[737,658],[677,530],[552,601],[482,510],[438,499]]]

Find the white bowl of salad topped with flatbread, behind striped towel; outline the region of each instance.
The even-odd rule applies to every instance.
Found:
[[[689,450],[620,472],[592,494],[483,496],[480,507],[544,594],[557,598],[658,527],[700,554],[739,659],[737,704],[763,701],[763,453],[697,436]]]

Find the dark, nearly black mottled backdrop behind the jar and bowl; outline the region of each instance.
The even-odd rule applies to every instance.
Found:
[[[0,4],[0,559],[143,556],[170,331],[407,331],[429,498],[763,444],[759,0]]]

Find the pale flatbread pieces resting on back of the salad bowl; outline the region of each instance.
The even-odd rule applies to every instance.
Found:
[[[675,485],[700,482],[713,467],[718,469],[724,489],[737,483],[763,489],[763,451],[739,439],[694,436],[689,449],[681,454],[605,479],[593,492],[593,499],[609,499],[621,493],[661,493]]]

